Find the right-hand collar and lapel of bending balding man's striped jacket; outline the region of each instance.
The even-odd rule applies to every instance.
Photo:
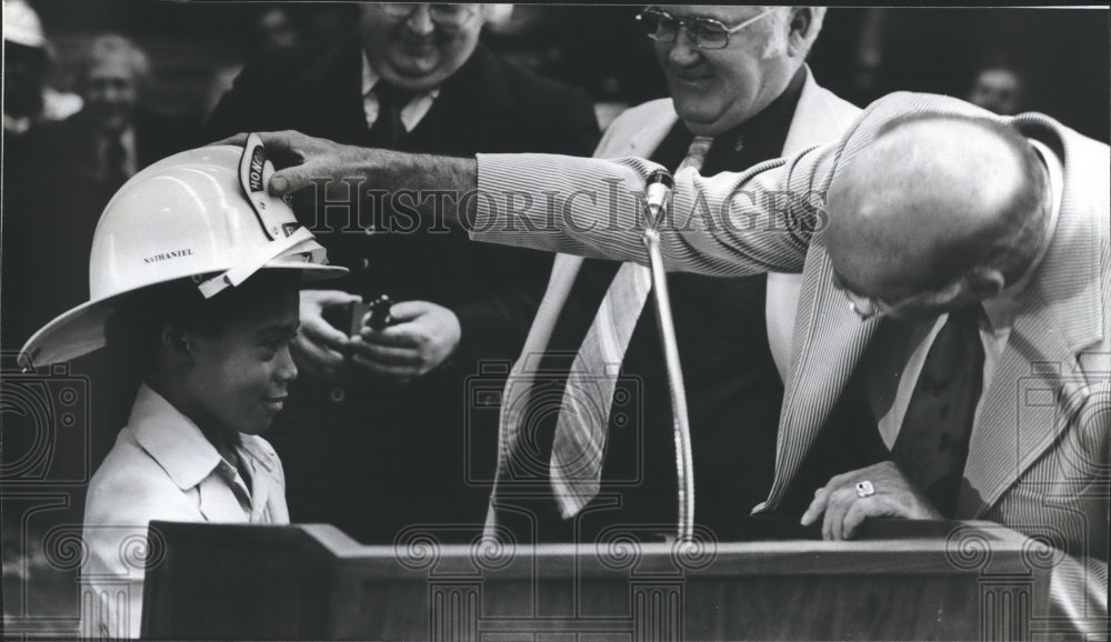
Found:
[[[984,391],[981,421],[969,444],[960,516],[979,516],[1049,449],[1090,394],[1080,353],[1105,339],[1100,229],[1105,212],[1080,204],[1083,175],[1060,126],[1040,114],[1013,124],[1060,154],[1064,167],[1061,211],[1049,250],[1033,274],[1007,349]],[[1087,171],[1092,171],[1090,168]],[[1074,180],[1074,179],[1073,179]]]

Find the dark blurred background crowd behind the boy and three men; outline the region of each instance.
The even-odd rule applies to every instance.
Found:
[[[633,24],[641,9],[501,6],[482,42],[585,90],[604,130],[627,107],[667,96]],[[147,164],[208,142],[202,127],[246,61],[330,43],[358,26],[357,7],[340,2],[4,0],[3,17],[6,367],[31,332],[87,299],[87,280],[73,274],[87,273],[111,194]],[[1092,9],[834,9],[810,66],[858,106],[897,90],[944,93],[1002,114],[1044,112],[1108,141],[1108,12]],[[4,423],[4,482],[26,472],[20,444],[37,448],[20,427]],[[41,539],[51,525],[80,523],[82,475],[111,442],[70,440],[56,461],[71,474],[6,483],[6,621],[72,615],[76,565],[48,560]]]

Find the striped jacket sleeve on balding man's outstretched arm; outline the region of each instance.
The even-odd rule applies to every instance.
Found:
[[[683,170],[660,225],[668,270],[719,277],[801,272],[828,220],[833,148],[813,148],[742,173]],[[478,154],[471,238],[588,258],[647,263],[642,159]]]

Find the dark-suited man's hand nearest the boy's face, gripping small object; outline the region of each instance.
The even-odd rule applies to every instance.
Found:
[[[290,344],[298,368],[312,377],[334,381],[339,378],[350,351],[351,339],[324,320],[329,308],[359,301],[356,294],[339,290],[303,290],[301,292],[301,328]]]

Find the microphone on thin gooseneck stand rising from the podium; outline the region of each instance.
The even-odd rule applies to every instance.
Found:
[[[648,179],[648,187],[663,183],[670,194],[671,174],[663,171],[653,172]],[[660,342],[663,347],[664,365],[668,371],[668,389],[671,392],[671,420],[675,440],[675,473],[679,489],[679,525],[680,542],[690,542],[694,532],[694,464],[691,455],[691,428],[687,414],[687,389],[683,387],[683,372],[679,363],[679,347],[675,342],[675,324],[671,318],[671,298],[668,294],[668,279],[663,270],[663,254],[660,253],[660,233],[657,228],[664,219],[669,199],[660,203],[655,212],[649,207],[649,223],[644,230],[642,242],[648,249],[648,264],[652,272],[652,290],[655,292],[655,320],[660,329]],[[651,214],[655,214],[654,220]]]

